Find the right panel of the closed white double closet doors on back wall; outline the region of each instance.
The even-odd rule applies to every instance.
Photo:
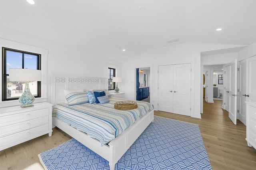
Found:
[[[190,116],[191,64],[173,65],[173,113]]]

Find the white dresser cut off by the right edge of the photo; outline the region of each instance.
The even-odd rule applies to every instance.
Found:
[[[246,140],[256,149],[256,103],[246,102]]]

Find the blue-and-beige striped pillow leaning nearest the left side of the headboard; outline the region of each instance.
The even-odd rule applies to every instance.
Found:
[[[70,93],[66,95],[66,99],[68,101],[68,105],[79,105],[82,103],[88,103],[88,95],[86,92],[80,92],[80,93]]]

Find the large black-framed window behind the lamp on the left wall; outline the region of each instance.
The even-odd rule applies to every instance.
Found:
[[[18,99],[24,90],[25,82],[9,81],[10,68],[41,69],[41,55],[2,47],[2,101]],[[34,97],[41,96],[41,82],[29,83]]]

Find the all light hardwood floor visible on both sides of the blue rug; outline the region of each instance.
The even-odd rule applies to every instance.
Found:
[[[204,103],[202,119],[155,111],[156,116],[199,125],[213,170],[255,170],[256,150],[247,146],[246,126],[234,125],[228,112],[221,109],[222,101]],[[0,151],[0,170],[43,170],[38,154],[57,146],[71,137],[58,128],[52,136],[40,136],[28,142]]]

